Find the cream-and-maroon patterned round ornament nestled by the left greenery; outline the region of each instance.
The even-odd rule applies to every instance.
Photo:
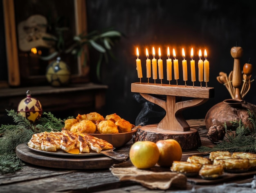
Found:
[[[31,123],[34,123],[40,119],[43,109],[40,101],[32,98],[30,90],[27,90],[27,97],[20,101],[17,112],[26,117]]]

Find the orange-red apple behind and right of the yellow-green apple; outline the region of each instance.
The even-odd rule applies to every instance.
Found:
[[[159,150],[159,159],[157,164],[162,167],[171,167],[173,161],[180,161],[182,157],[182,148],[174,139],[159,140],[156,142]]]

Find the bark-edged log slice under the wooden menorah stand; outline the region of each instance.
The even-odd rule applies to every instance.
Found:
[[[157,128],[157,124],[146,125],[139,128],[133,137],[133,142],[157,142],[164,139],[175,139],[180,143],[182,150],[197,149],[201,146],[200,135],[196,129],[191,128],[189,131],[165,130]]]

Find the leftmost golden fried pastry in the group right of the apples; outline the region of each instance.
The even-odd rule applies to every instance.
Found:
[[[181,162],[181,161],[173,161],[171,166],[171,171],[178,173],[198,173],[201,168],[201,164],[189,163],[189,162]]]

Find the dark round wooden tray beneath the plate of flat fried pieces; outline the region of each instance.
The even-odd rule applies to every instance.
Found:
[[[106,157],[104,155],[94,155],[86,157],[65,157],[47,155],[29,149],[25,144],[16,147],[16,155],[24,162],[37,166],[66,169],[100,169],[109,168],[120,161]]]

